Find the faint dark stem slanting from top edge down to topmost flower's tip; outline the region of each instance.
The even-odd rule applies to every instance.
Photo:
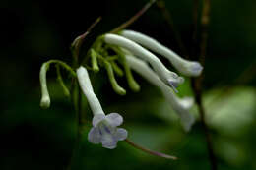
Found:
[[[160,13],[161,13],[163,19],[165,20],[166,24],[168,25],[168,28],[173,32],[174,38],[177,41],[178,47],[181,51],[181,55],[184,56],[184,58],[188,58],[188,52],[182,42],[179,32],[174,27],[174,23],[173,23],[171,14],[165,6],[164,0],[158,0],[157,6],[159,7]]]

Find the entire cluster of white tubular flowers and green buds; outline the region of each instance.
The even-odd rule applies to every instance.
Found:
[[[87,57],[90,58],[85,58],[85,61],[91,61],[91,69],[96,73],[100,67],[103,67],[113,90],[120,95],[125,95],[126,90],[118,85],[114,75],[120,77],[125,75],[129,87],[133,91],[139,91],[140,85],[133,78],[132,70],[137,72],[151,84],[160,88],[164,98],[180,117],[184,130],[189,131],[195,122],[195,118],[189,111],[193,105],[193,99],[190,97],[179,98],[175,93],[178,92],[177,87],[184,82],[184,78],[167,69],[150,50],[168,59],[173,67],[184,76],[196,77],[203,70],[198,62],[185,60],[157,40],[132,30],[122,30],[119,34],[106,33],[99,36],[88,52]],[[103,147],[109,149],[115,148],[118,141],[125,140],[128,136],[127,131],[118,128],[123,123],[123,117],[118,113],[105,115],[91,84],[86,69],[87,63],[83,62],[85,67],[80,66],[76,72],[61,61],[52,60],[44,63],[40,71],[42,93],[40,105],[44,108],[50,105],[46,85],[46,72],[50,63],[63,66],[69,71],[78,80],[81,90],[88,99],[94,114],[93,127],[88,134],[88,140],[93,143],[102,143]],[[118,65],[122,65],[124,70]],[[59,70],[57,74],[65,93],[69,94],[67,87],[62,82]]]

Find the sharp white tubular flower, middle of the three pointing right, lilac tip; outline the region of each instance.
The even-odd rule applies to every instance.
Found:
[[[171,86],[174,90],[177,85],[182,84],[184,79],[179,77],[176,73],[169,71],[161,62],[158,57],[156,57],[153,53],[143,48],[136,42],[129,40],[125,37],[107,33],[104,35],[104,41],[106,43],[117,45],[122,48],[130,50],[135,56],[142,58],[149,62],[157,74],[160,76],[162,82],[166,85]]]

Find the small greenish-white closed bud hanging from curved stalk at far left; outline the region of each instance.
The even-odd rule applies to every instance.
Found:
[[[41,101],[40,106],[42,108],[48,108],[50,107],[50,96],[47,88],[47,79],[46,79],[46,73],[49,68],[48,63],[43,63],[40,69],[40,85],[41,85]]]

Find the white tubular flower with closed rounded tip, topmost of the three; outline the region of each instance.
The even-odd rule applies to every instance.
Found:
[[[203,67],[200,65],[200,63],[181,58],[175,52],[163,46],[160,44],[160,42],[150,36],[133,30],[123,30],[120,34],[164,56],[180,73],[186,76],[199,76],[203,70]]]

